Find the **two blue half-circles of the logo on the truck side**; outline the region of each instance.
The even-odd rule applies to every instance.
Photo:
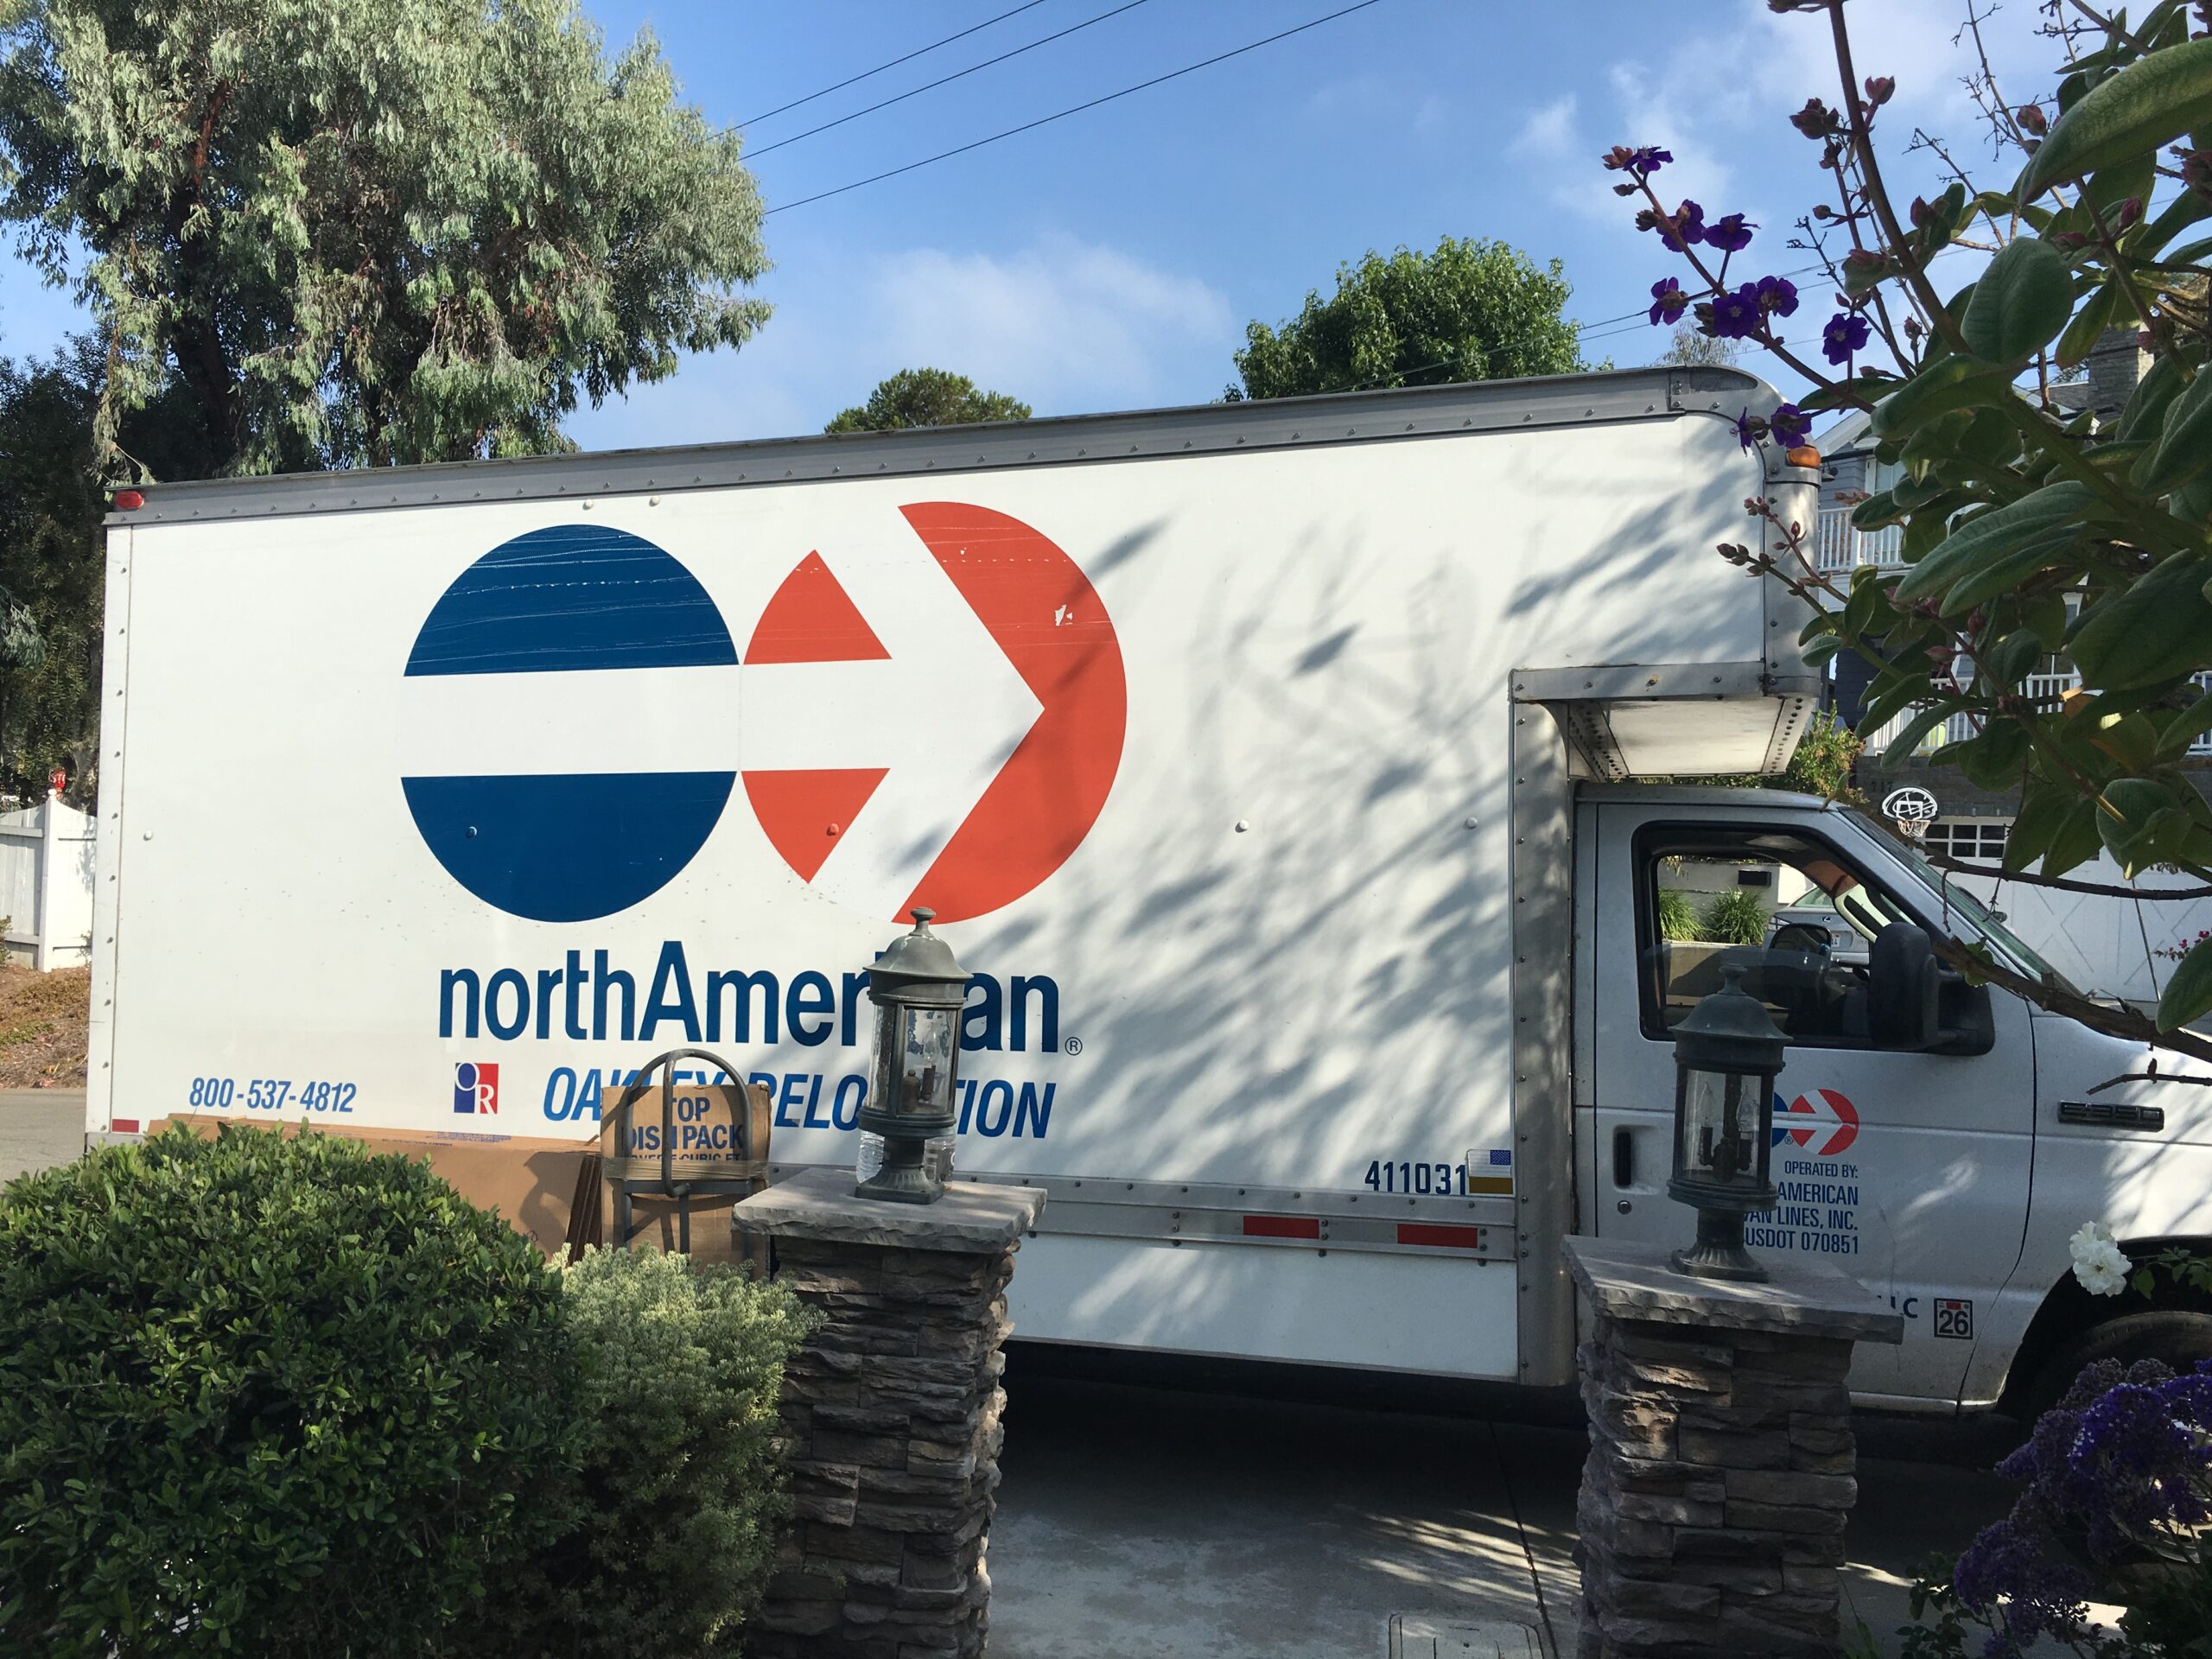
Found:
[[[407,679],[529,675],[551,690],[555,675],[734,666],[730,628],[675,557],[628,531],[562,524],[462,571],[422,622]],[[584,922],[675,880],[734,781],[708,770],[460,770],[403,776],[400,787],[422,841],[471,894],[511,916]]]

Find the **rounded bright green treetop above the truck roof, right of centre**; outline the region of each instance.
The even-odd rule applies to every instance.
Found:
[[[1338,265],[1329,299],[1307,292],[1281,330],[1248,325],[1243,385],[1225,396],[1575,374],[1590,365],[1577,325],[1559,314],[1573,292],[1557,259],[1537,265],[1502,241],[1444,237],[1433,254],[1369,252]]]

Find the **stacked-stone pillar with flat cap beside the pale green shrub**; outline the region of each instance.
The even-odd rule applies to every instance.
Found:
[[[823,1327],[783,1371],[792,1522],[745,1652],[973,1659],[1006,1394],[1013,1252],[1044,1192],[951,1181],[938,1203],[854,1197],[814,1168],[737,1206]]]

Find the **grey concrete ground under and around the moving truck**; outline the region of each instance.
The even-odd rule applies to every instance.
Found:
[[[82,1091],[0,1091],[0,1179],[82,1144]],[[1006,1396],[993,1659],[1575,1652],[1586,1442],[1566,1396],[1022,1345]],[[1889,1637],[1929,1553],[2004,1513],[1989,1467],[2017,1438],[1991,1420],[1858,1431],[1845,1595]]]

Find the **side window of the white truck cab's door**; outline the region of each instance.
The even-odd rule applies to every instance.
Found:
[[[1765,880],[1747,883],[1745,872]],[[1874,936],[1911,920],[1825,841],[1783,830],[1648,825],[1637,836],[1644,1031],[1672,1033],[1728,967],[1792,1044],[1871,1046]]]

